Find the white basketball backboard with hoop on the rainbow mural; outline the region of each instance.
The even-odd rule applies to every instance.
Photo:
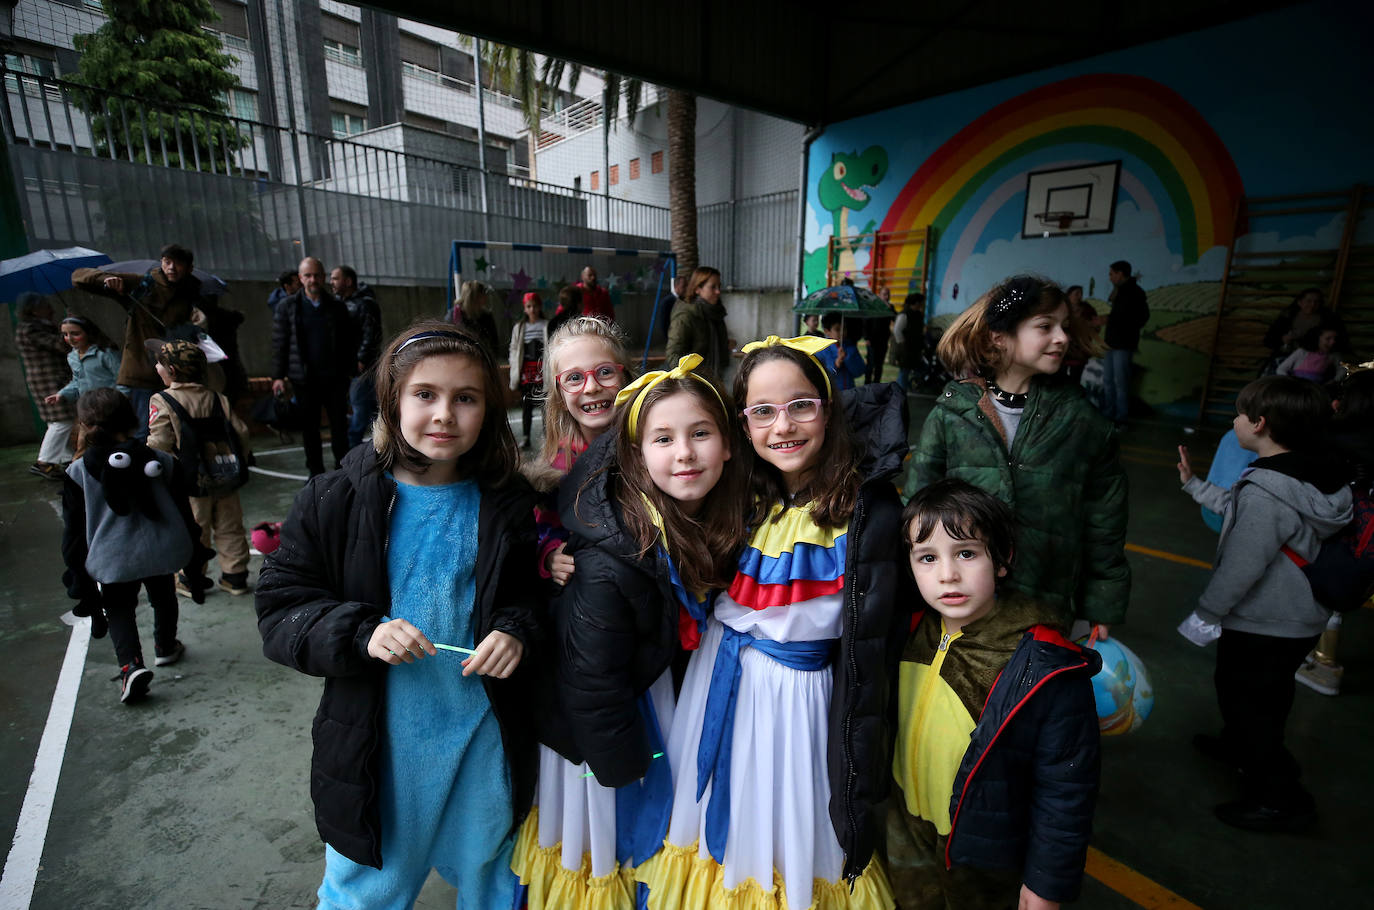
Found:
[[[1120,179],[1120,161],[1032,170],[1021,236],[1110,232]]]

